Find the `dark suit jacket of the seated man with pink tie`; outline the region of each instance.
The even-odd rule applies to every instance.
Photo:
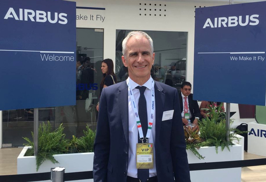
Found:
[[[181,92],[179,93],[179,101],[180,101],[180,111],[182,113],[183,111],[183,99]],[[189,105],[189,111],[192,115],[191,123],[193,123],[195,117],[201,118],[201,110],[198,107],[198,101],[193,100],[193,94],[189,94],[188,96],[188,105]]]

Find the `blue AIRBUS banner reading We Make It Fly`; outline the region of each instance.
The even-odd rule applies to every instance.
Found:
[[[194,99],[264,105],[266,2],[196,8]]]

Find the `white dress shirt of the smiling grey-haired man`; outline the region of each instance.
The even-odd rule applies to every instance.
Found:
[[[139,108],[139,89],[137,89],[137,86],[145,86],[147,87],[144,95],[147,102],[147,117],[150,116],[150,105],[151,105],[151,87],[152,87],[152,78],[144,83],[143,85],[139,85],[135,83],[130,77],[127,78],[129,80],[129,83],[131,85],[136,107]],[[156,102],[155,102],[155,110],[156,110]],[[154,111],[155,113],[156,111]],[[137,123],[134,115],[134,110],[132,108],[131,99],[128,95],[128,135],[129,135],[129,152],[128,152],[128,168],[127,168],[127,176],[137,178],[138,170],[136,168],[136,144],[138,143],[138,128]],[[153,117],[153,124],[152,124],[152,132],[150,134],[149,143],[153,143],[153,168],[149,169],[150,176],[156,176],[156,165],[155,165],[155,115]],[[145,137],[145,136],[144,136]]]

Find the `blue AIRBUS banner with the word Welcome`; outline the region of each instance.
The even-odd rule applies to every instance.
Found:
[[[76,104],[76,2],[0,1],[0,110]]]

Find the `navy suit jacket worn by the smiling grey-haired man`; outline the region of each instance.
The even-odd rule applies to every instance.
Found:
[[[94,143],[94,182],[126,182],[128,167],[128,87],[126,81],[104,88]],[[162,121],[164,111],[173,119]],[[189,182],[178,92],[155,81],[155,155],[159,182]],[[174,180],[175,177],[175,180]]]

